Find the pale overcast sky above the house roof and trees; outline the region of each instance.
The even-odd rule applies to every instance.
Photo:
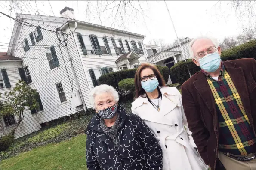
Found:
[[[143,34],[146,36],[144,43],[147,44],[151,39],[163,39],[165,42],[171,43],[176,39],[169,15],[164,1],[140,1],[132,3],[137,9],[126,8],[127,15],[120,16],[120,12],[111,13],[111,6],[115,6],[118,1],[113,2],[108,6],[105,12],[106,2],[90,1],[89,10],[85,1],[37,1],[37,6],[34,1],[28,1],[31,6],[22,8],[23,13],[34,14],[36,11],[40,15],[60,16],[60,11],[68,6],[74,9],[77,20],[87,21],[94,24],[102,24],[107,27],[127,30],[134,33]],[[237,36],[242,32],[243,27],[249,25],[248,18],[237,18],[234,9],[230,9],[228,1],[167,1],[170,14],[176,27],[179,37],[196,37],[200,35],[215,36],[220,41],[226,36]],[[20,13],[19,9],[9,9],[9,1],[0,1],[1,12],[15,17],[15,13]],[[27,5],[29,5],[27,3]],[[51,9],[51,6],[52,9]],[[99,6],[98,8],[96,6]],[[140,6],[139,6],[140,5]],[[255,12],[255,8],[253,9]],[[87,13],[86,13],[87,11]],[[124,9],[121,9],[124,13]],[[131,13],[132,12],[132,13]],[[131,14],[130,14],[131,13]],[[101,21],[99,15],[101,14]],[[116,18],[115,18],[116,16]],[[115,18],[115,19],[114,19]],[[122,25],[122,18],[124,24]],[[113,22],[114,21],[114,22]],[[9,43],[12,34],[14,21],[1,15],[0,18],[0,42],[1,51],[7,51],[3,43]],[[253,21],[255,25],[255,20]]]

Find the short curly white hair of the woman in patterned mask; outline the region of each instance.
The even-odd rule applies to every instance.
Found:
[[[92,90],[91,95],[89,97],[89,101],[92,104],[93,108],[95,108],[95,100],[94,100],[95,96],[105,92],[111,93],[111,95],[114,97],[115,102],[119,101],[119,95],[117,90],[114,89],[114,87],[112,86],[108,86],[107,84],[102,84],[102,85],[96,86]]]

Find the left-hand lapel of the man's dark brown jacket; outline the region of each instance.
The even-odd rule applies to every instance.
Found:
[[[204,75],[203,72],[199,72],[196,76],[195,79],[197,81],[194,81],[194,86],[197,89],[197,92],[199,93],[200,97],[203,99],[205,105],[208,107],[210,110],[210,113],[212,113],[213,116],[215,115],[215,102],[213,98],[213,94],[211,92],[210,86],[207,83],[207,79]]]

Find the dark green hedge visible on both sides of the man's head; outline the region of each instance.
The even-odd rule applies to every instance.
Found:
[[[223,61],[241,58],[254,58],[256,60],[256,40],[223,51],[221,58]],[[170,74],[175,77],[180,84],[183,84],[189,78],[188,69],[191,75],[200,71],[200,67],[195,65],[191,59],[188,59],[186,62],[180,61],[174,65],[170,69]]]

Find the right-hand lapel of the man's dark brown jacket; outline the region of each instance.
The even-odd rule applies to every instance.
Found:
[[[250,114],[250,98],[248,95],[248,89],[243,69],[241,67],[236,68],[235,63],[229,61],[224,61],[223,63],[241,98],[242,104],[245,109],[245,113]]]

